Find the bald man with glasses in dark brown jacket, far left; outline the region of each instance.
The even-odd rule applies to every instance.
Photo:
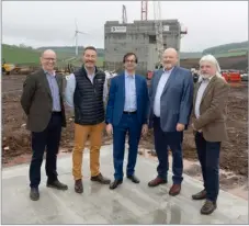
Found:
[[[41,57],[42,69],[27,76],[23,84],[22,108],[27,115],[26,128],[32,132],[33,156],[30,166],[30,197],[39,199],[41,166],[46,148],[47,187],[67,190],[57,178],[57,154],[61,127],[66,126],[63,102],[63,77],[55,75],[55,52],[48,49]]]

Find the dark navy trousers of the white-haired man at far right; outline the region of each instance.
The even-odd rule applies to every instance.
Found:
[[[206,199],[216,202],[219,190],[220,142],[206,142],[202,133],[196,133],[195,145],[202,167]]]

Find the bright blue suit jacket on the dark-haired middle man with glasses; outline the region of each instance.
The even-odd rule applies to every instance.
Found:
[[[137,97],[137,118],[140,124],[148,123],[149,95],[146,79],[143,76],[135,76]],[[105,122],[117,126],[125,105],[125,75],[124,72],[112,78],[109,91]]]

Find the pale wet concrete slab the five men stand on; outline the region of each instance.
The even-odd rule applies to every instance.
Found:
[[[224,191],[220,191],[216,212],[201,215],[203,201],[192,201],[191,194],[200,191],[202,183],[188,176],[184,176],[181,194],[176,197],[168,194],[171,173],[169,184],[148,188],[148,181],[156,177],[157,162],[151,159],[138,157],[139,184],[124,179],[114,191],[89,180],[88,151],[83,159],[83,194],[73,191],[69,156],[58,160],[59,179],[69,185],[69,190],[46,188],[43,166],[41,200],[37,202],[29,199],[29,166],[4,169],[2,224],[248,224],[248,201]],[[126,163],[125,160],[124,169]],[[101,170],[113,179],[112,146],[101,149]]]

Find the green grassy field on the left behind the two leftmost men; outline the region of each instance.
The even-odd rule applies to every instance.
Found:
[[[32,48],[25,48],[25,47],[19,47],[19,46],[12,46],[12,45],[5,45],[2,44],[2,59],[4,59],[7,63],[15,64],[15,65],[39,65],[39,56],[41,56],[39,49],[32,49]],[[73,53],[67,53],[67,52],[57,52],[57,66],[64,67],[68,64],[68,61],[64,61],[65,59],[69,59],[73,57]],[[75,66],[80,66],[81,59],[76,59],[73,61],[70,61]],[[103,57],[99,57],[97,61],[98,67],[103,67]]]

